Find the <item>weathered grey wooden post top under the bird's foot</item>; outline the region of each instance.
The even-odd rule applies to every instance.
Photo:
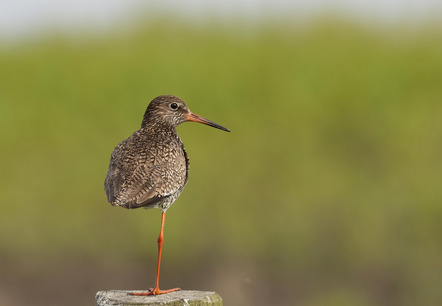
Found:
[[[135,296],[134,290],[99,291],[95,295],[96,306],[135,306],[135,305],[168,305],[168,306],[222,306],[221,296],[210,291],[181,290],[161,295]],[[137,290],[135,290],[137,292]]]

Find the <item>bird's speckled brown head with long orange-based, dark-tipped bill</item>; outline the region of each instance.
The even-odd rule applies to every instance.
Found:
[[[141,127],[155,123],[177,127],[179,124],[187,121],[203,123],[230,132],[225,127],[192,113],[183,100],[172,95],[159,96],[150,102],[144,113]]]

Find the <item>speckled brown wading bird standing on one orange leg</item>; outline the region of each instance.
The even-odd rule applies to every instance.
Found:
[[[108,202],[127,209],[162,210],[155,286],[147,292],[131,292],[131,295],[159,295],[180,290],[160,290],[159,277],[166,211],[179,197],[189,177],[189,157],[176,130],[184,122],[199,122],[230,132],[192,113],[180,98],[162,95],[147,106],[141,128],[121,141],[110,157],[104,182]]]

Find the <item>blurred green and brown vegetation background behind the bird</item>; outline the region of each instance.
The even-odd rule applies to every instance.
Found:
[[[0,304],[154,284],[160,211],[111,207],[110,154],[150,100],[189,183],[160,286],[225,305],[441,305],[442,28],[157,16],[0,48]],[[31,303],[32,301],[32,303]]]

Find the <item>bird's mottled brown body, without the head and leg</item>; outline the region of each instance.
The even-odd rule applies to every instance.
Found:
[[[142,128],[112,152],[105,180],[108,201],[125,208],[166,210],[186,185],[188,169],[175,129]]]

